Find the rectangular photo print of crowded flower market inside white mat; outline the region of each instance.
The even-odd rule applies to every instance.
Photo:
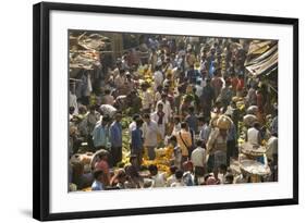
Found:
[[[68,38],[69,191],[278,182],[278,40]]]

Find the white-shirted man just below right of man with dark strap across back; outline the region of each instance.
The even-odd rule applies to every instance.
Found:
[[[196,141],[197,148],[192,152],[192,162],[195,171],[195,184],[199,185],[204,183],[204,174],[206,171],[206,149],[203,148],[205,144],[203,140]]]

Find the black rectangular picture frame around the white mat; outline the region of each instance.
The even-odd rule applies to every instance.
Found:
[[[50,154],[50,89],[49,42],[50,12],[73,11],[111,14],[131,14],[166,17],[183,17],[211,21],[285,24],[293,27],[293,197],[260,201],[186,205],[138,209],[98,210],[50,213],[49,209],[49,154]],[[106,218],[134,214],[152,214],[216,209],[252,208],[298,203],[298,20],[289,17],[250,16],[237,14],[136,9],[89,4],[41,2],[33,7],[33,216],[40,221],[83,218]]]

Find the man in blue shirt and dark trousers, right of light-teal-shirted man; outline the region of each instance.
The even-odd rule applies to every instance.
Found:
[[[114,166],[122,161],[122,114],[117,112],[114,115],[115,121],[110,126],[110,143],[111,143],[111,162],[110,165]]]

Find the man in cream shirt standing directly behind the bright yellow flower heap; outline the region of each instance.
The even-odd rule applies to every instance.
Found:
[[[150,120],[148,113],[144,114],[144,147],[147,148],[149,160],[154,160],[156,157],[155,148],[157,147],[157,135],[159,134],[158,125],[155,121]]]

